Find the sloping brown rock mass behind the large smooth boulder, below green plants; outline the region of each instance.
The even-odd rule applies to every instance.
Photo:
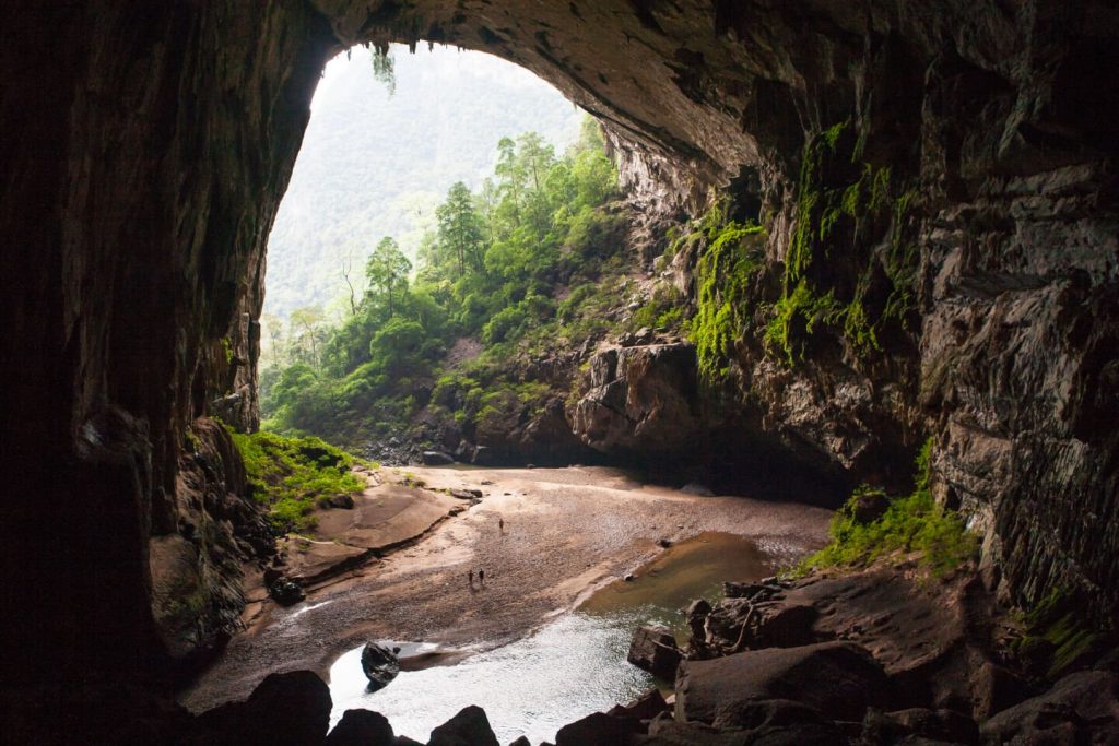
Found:
[[[990,653],[994,598],[974,574],[918,582],[897,569],[733,584],[689,616],[693,658],[848,640],[874,651],[893,707],[953,709],[984,720],[1029,695]]]

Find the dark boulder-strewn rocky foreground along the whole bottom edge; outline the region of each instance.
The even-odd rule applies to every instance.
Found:
[[[1119,743],[1115,653],[1053,682],[1031,678],[1006,644],[1013,620],[972,567],[947,579],[902,564],[726,584],[722,601],[688,611],[681,650],[642,630],[630,655],[646,665],[653,649],[670,650],[658,672],[671,672],[674,693],[652,690],[568,724],[555,746]],[[330,693],[310,671],[271,674],[247,700],[196,717],[150,697],[128,705],[129,737],[112,743],[419,743],[367,710],[347,710],[328,733]],[[498,745],[483,709],[463,709],[427,742],[460,745]]]

